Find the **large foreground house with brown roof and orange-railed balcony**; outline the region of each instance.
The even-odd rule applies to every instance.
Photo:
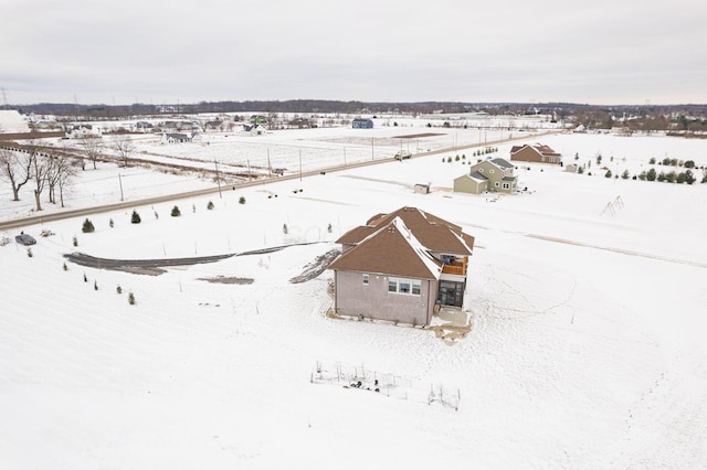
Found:
[[[331,263],[335,309],[429,325],[441,306],[462,307],[474,237],[416,207],[378,214],[344,234]]]

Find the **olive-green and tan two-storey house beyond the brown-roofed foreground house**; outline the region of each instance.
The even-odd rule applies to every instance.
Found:
[[[454,192],[481,194],[485,191],[498,191],[511,194],[518,185],[518,177],[513,174],[514,169],[514,164],[503,158],[481,161],[468,173],[454,180]]]

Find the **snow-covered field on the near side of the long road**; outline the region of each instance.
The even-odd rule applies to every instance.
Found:
[[[619,174],[651,157],[707,164],[698,140],[540,141],[566,163],[592,160],[593,173],[598,153]],[[497,147],[506,157],[510,143]],[[442,159],[136,207],[139,225],[131,211],[99,214],[93,234],[83,218],[22,227],[39,241],[33,256],[0,246],[0,468],[707,467],[707,184],[532,164],[518,170],[527,192],[476,196],[451,192],[468,165]],[[75,200],[103,201],[101,184],[82,180]],[[452,345],[327,318],[330,273],[288,281],[402,205],[476,237],[473,329]],[[75,250],[139,259],[282,245],[293,246],[160,276],[63,268]],[[203,280],[219,276],[253,282]],[[411,399],[313,384],[317,363],[394,375]],[[413,399],[440,386],[458,391],[457,410]]]

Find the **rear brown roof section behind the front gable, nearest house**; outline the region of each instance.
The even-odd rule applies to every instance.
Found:
[[[400,207],[390,214],[377,214],[365,226],[345,233],[337,243],[357,245],[395,217],[400,217],[418,241],[429,250],[455,255],[472,255],[474,237],[462,232],[462,227],[416,207]]]

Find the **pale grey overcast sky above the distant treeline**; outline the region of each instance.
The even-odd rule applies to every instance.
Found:
[[[707,1],[0,0],[0,86],[15,105],[704,104]]]

